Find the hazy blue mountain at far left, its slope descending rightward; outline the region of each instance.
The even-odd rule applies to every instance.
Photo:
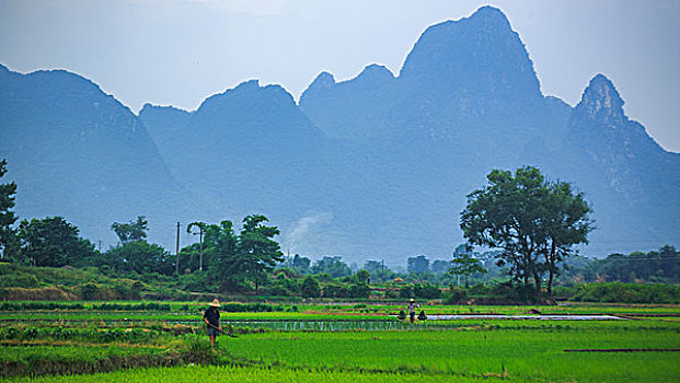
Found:
[[[21,219],[62,216],[104,246],[110,227],[146,214],[171,244],[189,195],[171,176],[143,124],[113,96],[64,71],[0,66],[0,158],[16,181]]]

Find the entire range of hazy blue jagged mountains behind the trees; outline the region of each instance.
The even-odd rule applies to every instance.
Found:
[[[346,260],[448,257],[465,196],[494,167],[540,167],[595,210],[583,254],[646,251],[680,239],[680,154],[630,119],[597,74],[575,107],[541,93],[506,16],[484,7],[428,27],[395,74],[370,65],[320,73],[299,103],[256,80],[194,112],[131,113],[67,71],[0,66],[0,158],[21,218],[64,216],[115,243],[114,221],[149,219],[174,249],[175,222],[264,213],[285,252]],[[194,241],[194,239],[191,239]]]

